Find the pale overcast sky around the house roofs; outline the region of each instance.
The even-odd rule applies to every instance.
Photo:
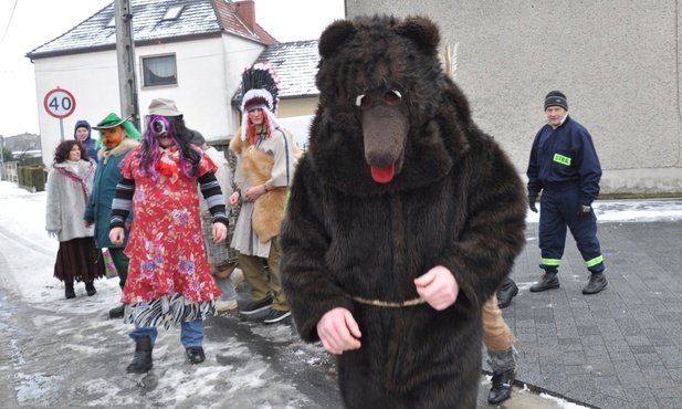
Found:
[[[40,133],[39,101],[44,95],[35,95],[33,64],[24,55],[112,2],[0,0],[0,135]],[[282,42],[317,39],[344,15],[344,0],[255,0],[256,21]]]

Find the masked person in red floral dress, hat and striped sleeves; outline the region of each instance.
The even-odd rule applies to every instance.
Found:
[[[213,216],[213,240],[227,235],[228,218],[216,165],[191,145],[191,132],[170,99],[151,102],[144,141],[122,161],[122,179],[113,202],[109,238],[124,238],[130,258],[122,302],[125,322],[134,323],[135,357],[128,373],[151,369],[156,326],[181,324],[180,342],[191,364],[204,360],[203,317],[214,313],[220,296],[206,258],[197,185]]]

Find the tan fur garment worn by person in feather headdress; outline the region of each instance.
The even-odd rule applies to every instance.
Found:
[[[293,140],[288,129],[281,129],[285,137]],[[230,150],[241,156],[241,167],[249,186],[263,185],[270,179],[274,158],[272,155],[256,149],[249,141],[242,140],[241,128],[230,141]],[[294,157],[301,158],[301,149],[294,143]],[[261,196],[253,204],[253,217],[251,220],[253,230],[263,243],[272,240],[280,233],[280,226],[284,218],[284,203],[286,201],[287,189],[272,189]]]

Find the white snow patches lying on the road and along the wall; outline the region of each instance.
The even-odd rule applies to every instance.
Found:
[[[594,204],[595,212],[599,222],[644,222],[655,220],[682,220],[682,200],[665,199],[665,200],[621,200],[621,201],[597,201]],[[538,221],[538,214],[528,211],[527,221],[533,223]],[[65,325],[60,322],[59,317],[53,315],[36,315],[33,317],[33,323],[40,326],[53,326],[59,328],[61,333],[73,331],[80,337],[91,337],[88,343],[83,345],[73,345],[76,352],[86,354],[97,353],[97,343],[105,339],[97,339],[96,329],[99,327],[109,333],[119,334],[119,339],[115,343],[120,344],[123,348],[132,348],[132,344],[127,340],[127,332],[129,325],[125,325],[122,321],[103,319],[90,324],[90,333],[82,332],[76,328],[77,316],[93,313],[93,311],[102,311],[103,315],[112,306],[116,305],[120,290],[118,289],[118,280],[98,280],[95,282],[97,295],[88,297],[85,295],[83,284],[76,285],[76,298],[73,302],[64,302],[63,284],[53,277],[54,258],[57,250],[56,239],[50,238],[44,230],[45,224],[45,192],[31,193],[24,189],[18,188],[14,183],[0,181],[0,234],[9,240],[3,241],[1,245],[0,256],[4,254],[9,265],[9,272],[0,274],[0,285],[10,292],[18,294],[24,302],[32,306],[51,312],[64,313],[67,316],[66,321],[73,319],[74,323]],[[56,322],[55,322],[56,319]],[[3,331],[7,328],[3,328]],[[92,332],[92,329],[95,329]],[[295,334],[292,333],[288,326],[258,326],[251,328],[253,334],[262,336],[265,339],[272,339],[273,343],[285,343],[288,348],[295,350],[294,355],[300,355],[301,360],[309,365],[318,365],[321,359],[325,359],[324,352],[321,353],[321,347],[315,345],[306,345],[297,340]],[[62,335],[60,333],[56,334]],[[168,338],[168,339],[166,339]],[[239,343],[234,338],[220,339],[211,342],[207,339],[204,348],[207,356],[209,353],[216,356],[219,360],[235,363],[239,365],[221,365],[210,364],[208,360],[204,365],[198,366],[195,371],[188,374],[187,369],[178,368],[175,360],[182,359],[182,350],[179,344],[179,333],[177,329],[167,332],[159,331],[159,342],[155,348],[155,370],[164,374],[162,382],[166,391],[172,390],[171,397],[168,399],[176,403],[182,402],[189,397],[206,397],[211,398],[216,394],[234,394],[235,400],[232,403],[239,403],[239,396],[243,396],[239,390],[259,390],[261,396],[277,396],[281,395],[284,399],[288,399],[287,403],[280,402],[283,406],[295,408],[292,406],[295,402],[303,403],[305,407],[305,396],[296,392],[296,384],[291,381],[279,381],[276,388],[272,385],[263,385],[263,374],[270,370],[270,361],[262,359],[244,358],[248,354],[248,348],[243,343]],[[109,339],[109,342],[113,342]],[[90,346],[88,346],[90,345]],[[228,347],[229,345],[229,347]],[[10,355],[19,354],[12,350]],[[128,357],[126,356],[126,359]],[[21,356],[13,356],[13,360],[21,360]],[[125,365],[122,364],[122,365]],[[21,374],[20,374],[21,375]],[[197,377],[196,375],[201,375]],[[230,384],[220,384],[221,378],[230,378]],[[188,381],[191,378],[192,381]],[[25,402],[38,403],[42,406],[41,399],[45,395],[33,396],[38,390],[50,390],[51,385],[57,382],[54,377],[40,377],[40,374],[32,374],[24,380],[20,379],[21,387],[18,390],[18,399]],[[221,388],[228,390],[216,390],[220,385]],[[157,387],[160,388],[160,387]],[[130,397],[126,398],[126,394],[119,394],[119,389],[113,387],[111,382],[103,379],[92,379],[86,389],[99,392],[99,398],[96,401],[91,401],[95,406],[127,406],[134,405]],[[250,396],[253,399],[253,395]],[[286,398],[287,397],[287,398]],[[127,399],[127,400],[126,400]],[[243,399],[243,397],[242,397]],[[211,401],[204,400],[204,401]],[[21,402],[20,402],[21,403]],[[46,402],[45,402],[46,403]],[[274,407],[272,402],[260,401],[254,405],[254,401],[242,401],[251,407],[269,408]],[[309,402],[308,402],[309,403]],[[563,403],[563,407],[575,408],[571,403]],[[276,406],[276,405],[275,405]],[[233,407],[240,407],[239,405]]]

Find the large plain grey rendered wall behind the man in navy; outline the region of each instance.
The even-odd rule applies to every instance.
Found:
[[[359,14],[420,14],[458,44],[474,119],[525,174],[560,90],[590,132],[604,193],[682,193],[678,1],[346,0]],[[418,6],[416,6],[418,4]]]

